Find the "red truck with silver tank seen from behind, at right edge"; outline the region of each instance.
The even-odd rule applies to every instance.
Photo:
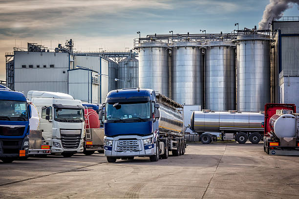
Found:
[[[299,114],[295,104],[265,105],[264,151],[270,155],[299,155]]]

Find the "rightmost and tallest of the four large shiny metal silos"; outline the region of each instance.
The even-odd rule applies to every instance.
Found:
[[[270,102],[270,37],[241,35],[236,44],[237,110],[264,110]]]

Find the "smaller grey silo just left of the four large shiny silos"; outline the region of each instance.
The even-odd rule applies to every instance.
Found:
[[[138,87],[138,60],[127,57],[118,63],[117,89]]]

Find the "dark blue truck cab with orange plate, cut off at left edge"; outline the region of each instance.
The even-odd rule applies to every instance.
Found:
[[[0,159],[12,162],[28,157],[31,108],[25,96],[0,87]]]

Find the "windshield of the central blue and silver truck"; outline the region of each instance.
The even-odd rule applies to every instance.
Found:
[[[106,106],[107,119],[149,119],[150,102],[109,102]]]

